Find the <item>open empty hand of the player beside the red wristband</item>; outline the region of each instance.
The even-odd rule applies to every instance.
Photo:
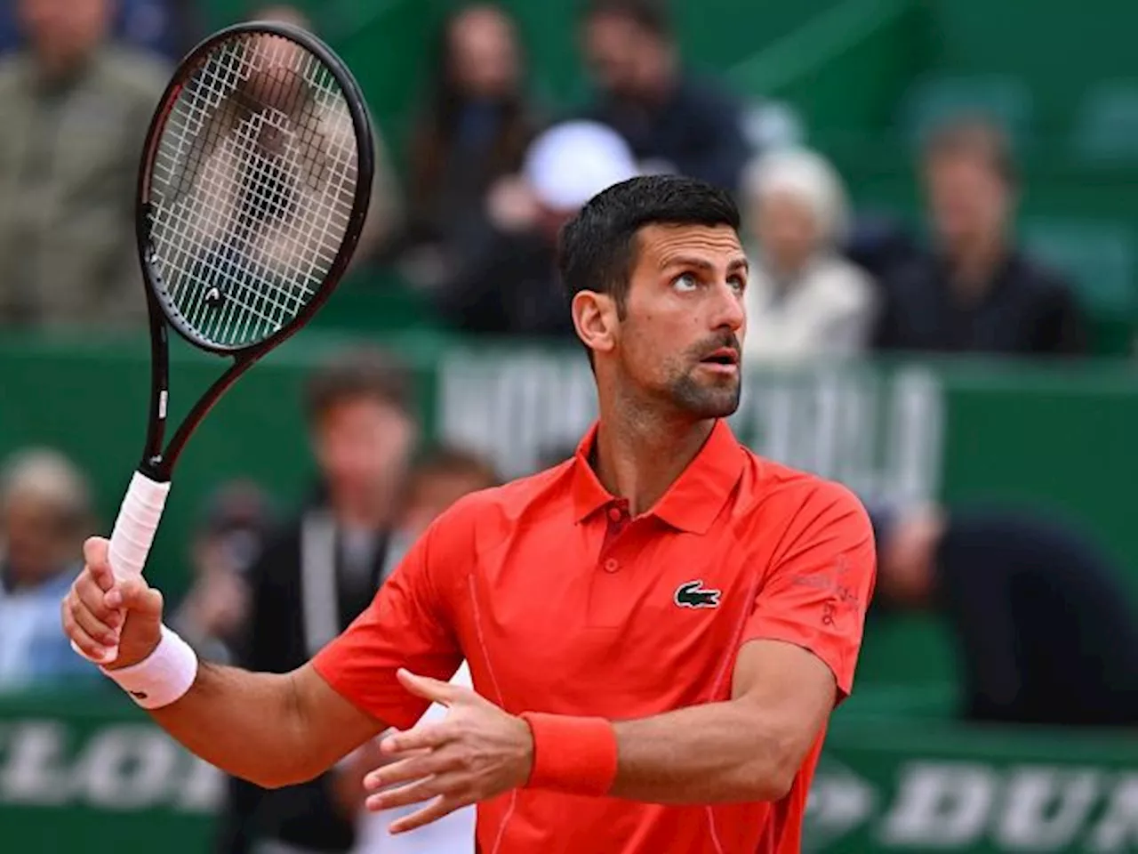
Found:
[[[523,786],[534,762],[529,724],[506,714],[468,688],[398,672],[399,682],[417,697],[447,707],[437,723],[421,723],[380,742],[391,764],[364,778],[369,810],[389,810],[436,798],[432,804],[391,823],[391,834],[414,830],[455,810],[488,800]]]

